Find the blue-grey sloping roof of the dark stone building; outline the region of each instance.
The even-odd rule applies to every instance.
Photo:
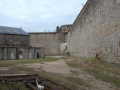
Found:
[[[27,32],[23,31],[21,28],[4,27],[4,26],[0,26],[0,33],[17,34],[17,35],[29,35]]]

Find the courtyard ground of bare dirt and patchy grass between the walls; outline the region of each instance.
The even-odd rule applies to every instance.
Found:
[[[119,66],[92,59],[82,61],[74,57],[52,56],[42,60],[18,60],[19,63],[1,61],[0,75],[37,73],[71,90],[120,90]]]

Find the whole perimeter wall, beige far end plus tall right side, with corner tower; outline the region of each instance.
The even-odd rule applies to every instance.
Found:
[[[120,0],[87,0],[72,25],[56,32],[29,33],[30,45],[45,47],[46,55],[95,57],[120,64]],[[67,48],[66,48],[67,46]]]

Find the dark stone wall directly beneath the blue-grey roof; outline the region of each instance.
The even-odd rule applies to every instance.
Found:
[[[0,44],[29,46],[29,36],[0,34]]]

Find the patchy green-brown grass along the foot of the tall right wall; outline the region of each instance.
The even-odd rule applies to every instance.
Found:
[[[107,63],[95,57],[84,58],[81,60],[81,64],[74,57],[68,57],[65,61],[69,66],[84,68],[84,71],[95,76],[96,79],[101,79],[102,81],[120,87],[120,67],[117,65]],[[74,71],[71,72],[76,73]]]

